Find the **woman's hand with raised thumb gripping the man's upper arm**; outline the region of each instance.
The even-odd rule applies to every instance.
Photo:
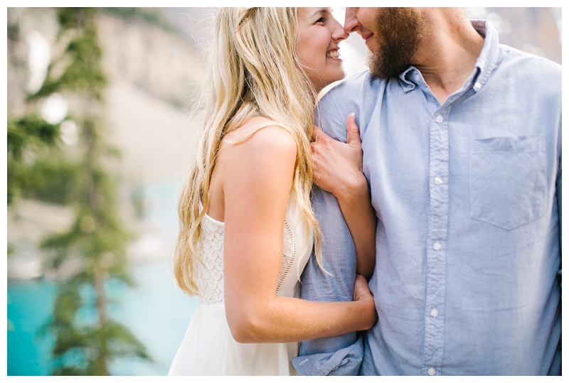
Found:
[[[336,141],[314,125],[312,161],[314,182],[330,192],[338,200],[349,200],[368,188],[362,172],[361,140],[356,116],[350,113],[346,119],[347,142]]]

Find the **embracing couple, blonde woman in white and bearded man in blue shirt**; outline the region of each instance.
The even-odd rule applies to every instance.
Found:
[[[357,32],[370,70],[345,74]],[[561,69],[462,9],[225,8],[169,374],[560,374]]]

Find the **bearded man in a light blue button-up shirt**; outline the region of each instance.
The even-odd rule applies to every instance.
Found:
[[[321,99],[331,138],[315,145],[346,145],[332,139],[346,142],[356,113],[378,217],[379,319],[363,337],[302,342],[295,367],[560,374],[560,66],[499,45],[462,9],[349,8],[344,29],[366,40],[370,70]],[[302,298],[350,300],[350,232],[333,194],[315,188],[314,209],[331,276],[311,260]]]

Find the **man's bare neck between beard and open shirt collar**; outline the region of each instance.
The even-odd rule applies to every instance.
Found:
[[[413,65],[420,70],[432,94],[443,104],[472,74],[484,46],[484,38],[467,18],[437,14],[427,16],[425,22]]]

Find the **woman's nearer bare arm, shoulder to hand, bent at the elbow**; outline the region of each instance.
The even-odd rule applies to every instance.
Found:
[[[282,233],[297,150],[268,126],[225,145],[216,167],[225,201],[225,313],[238,342],[294,342],[371,328],[367,286],[352,302],[310,302],[276,295]]]

